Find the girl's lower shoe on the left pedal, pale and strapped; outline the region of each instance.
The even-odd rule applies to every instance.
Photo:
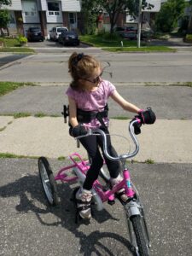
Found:
[[[92,198],[92,193],[90,190],[79,188],[76,195],[76,203],[78,207],[79,216],[81,218],[91,218],[91,208],[90,201]]]

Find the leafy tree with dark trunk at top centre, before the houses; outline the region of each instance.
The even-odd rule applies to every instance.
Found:
[[[153,8],[153,5],[147,1],[143,0],[143,9]],[[120,14],[138,15],[139,0],[82,0],[82,6],[90,10],[90,15],[91,13],[99,15],[103,11],[107,12],[110,20],[110,32],[113,33]]]

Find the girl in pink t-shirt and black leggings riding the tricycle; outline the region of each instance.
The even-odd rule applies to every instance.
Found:
[[[123,109],[139,114],[139,118],[142,119],[143,123],[145,119],[147,120],[145,123],[154,122],[155,116],[151,109],[142,111],[140,108],[137,108],[137,106],[125,101],[125,99],[119,95],[113,84],[102,79],[103,70],[101,63],[94,57],[74,52],[69,58],[68,68],[73,79],[67,89],[69,132],[71,136],[79,137],[80,135],[86,134],[84,124],[99,127],[107,134],[109,133],[107,107],[109,96]],[[87,150],[91,159],[91,165],[84,180],[83,188],[80,188],[76,194],[76,202],[80,217],[91,218],[91,188],[103,164],[102,154],[99,150],[99,148],[102,149],[102,139],[96,136],[83,137],[80,139],[80,143],[82,143]],[[109,135],[108,152],[116,156]],[[122,180],[119,174],[119,162],[108,160],[104,154],[103,157],[108,166],[111,177],[110,181],[113,186]],[[127,200],[125,189],[120,189],[119,196],[122,201]]]

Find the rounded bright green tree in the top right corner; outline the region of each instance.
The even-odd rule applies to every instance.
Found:
[[[156,26],[162,32],[172,32],[177,21],[183,17],[185,0],[168,0],[163,3],[157,15]]]

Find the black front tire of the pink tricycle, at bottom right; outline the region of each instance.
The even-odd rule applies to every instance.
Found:
[[[143,234],[141,217],[139,215],[132,216],[131,223],[136,236],[139,256],[148,256],[148,247],[145,241],[145,236]]]

